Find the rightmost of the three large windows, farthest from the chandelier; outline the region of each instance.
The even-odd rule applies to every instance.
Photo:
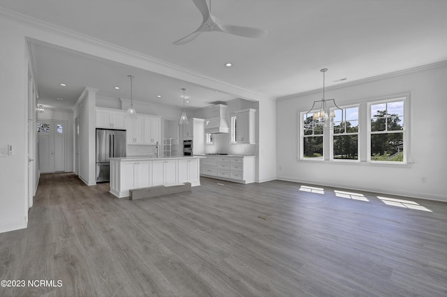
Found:
[[[369,106],[369,160],[405,162],[404,99],[398,98]]]

